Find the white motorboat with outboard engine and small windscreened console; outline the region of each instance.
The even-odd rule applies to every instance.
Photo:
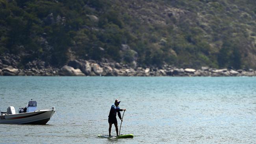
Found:
[[[37,102],[31,99],[17,114],[13,106],[9,106],[7,112],[0,111],[0,124],[46,124],[54,113],[55,107],[37,110]]]

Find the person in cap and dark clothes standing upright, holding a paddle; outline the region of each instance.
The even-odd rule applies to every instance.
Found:
[[[113,104],[111,106],[111,109],[109,111],[109,115],[108,115],[108,123],[109,123],[109,137],[111,137],[111,127],[112,127],[112,124],[115,125],[115,131],[117,131],[117,136],[118,136],[118,127],[117,127],[117,114],[118,114],[118,117],[120,118],[120,120],[122,120],[122,117],[121,117],[121,113],[120,111],[126,111],[126,109],[120,109],[119,107],[119,103],[120,101],[118,99],[115,100],[115,104]]]

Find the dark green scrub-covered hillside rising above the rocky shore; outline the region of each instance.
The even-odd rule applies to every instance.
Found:
[[[256,68],[255,19],[255,0],[0,0],[0,54]]]

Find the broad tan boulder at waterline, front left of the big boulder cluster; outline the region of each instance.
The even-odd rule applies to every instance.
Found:
[[[63,66],[60,69],[59,75],[61,75],[61,76],[85,76],[85,74],[83,74],[83,72],[79,68],[74,69],[73,67],[67,66],[67,65]]]

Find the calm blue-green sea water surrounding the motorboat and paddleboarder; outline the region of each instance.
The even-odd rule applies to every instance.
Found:
[[[0,124],[0,143],[256,142],[253,77],[0,77],[2,111],[31,98],[57,115],[44,126]],[[116,98],[127,109],[121,134],[132,139],[97,137],[108,134]]]

